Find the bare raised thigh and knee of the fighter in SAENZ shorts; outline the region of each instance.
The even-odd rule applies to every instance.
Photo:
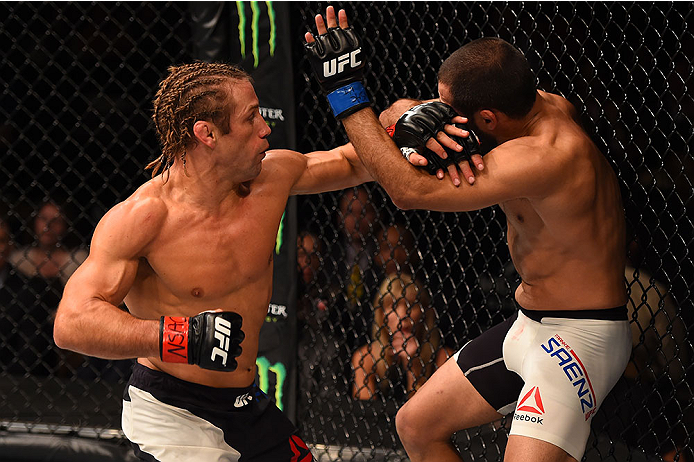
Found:
[[[416,426],[432,439],[447,439],[458,430],[501,417],[451,358],[405,403],[397,418],[399,426]]]

